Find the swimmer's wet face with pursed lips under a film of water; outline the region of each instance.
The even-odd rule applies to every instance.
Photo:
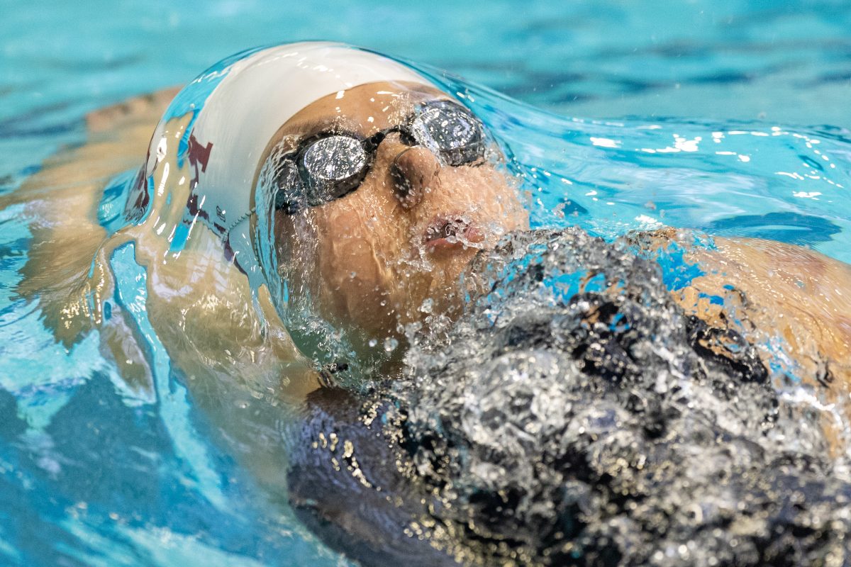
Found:
[[[420,85],[369,83],[306,106],[270,144],[270,151],[277,146],[278,155],[288,156],[294,172],[301,164],[301,178],[311,165],[312,150],[305,148],[314,139],[350,136],[314,148],[323,150],[316,154],[323,163],[341,159],[337,165],[348,172],[362,163],[352,155],[371,162],[346,184],[319,198],[294,199],[276,213],[291,296],[309,294],[320,315],[363,331],[356,334],[364,340],[400,337],[402,326],[428,313],[451,314],[460,304],[459,276],[477,251],[528,227],[517,189],[494,163],[498,152],[489,143],[466,144],[462,136],[454,142],[460,150],[446,151],[451,144],[421,145],[412,128],[393,131],[427,111],[437,112],[429,128],[457,120],[475,138],[481,123],[457,103],[438,102],[449,100]],[[361,154],[352,139],[374,144]],[[298,197],[302,190],[292,191]]]

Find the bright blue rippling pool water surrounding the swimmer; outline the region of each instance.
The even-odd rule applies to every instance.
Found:
[[[527,4],[0,0],[0,191],[82,143],[86,111],[244,48],[332,39],[463,96],[514,153],[535,224],[696,227],[851,262],[851,4]],[[152,400],[121,388],[94,337],[54,343],[11,292],[30,246],[16,213],[0,213],[0,564],[346,564],[238,466],[276,451],[273,418],[237,450],[156,337]],[[112,258],[126,306],[144,303],[132,254]]]

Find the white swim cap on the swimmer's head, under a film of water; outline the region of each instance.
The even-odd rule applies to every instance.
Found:
[[[220,235],[248,279],[260,283],[251,237],[258,161],[284,122],[317,99],[368,82],[431,84],[405,65],[339,43],[290,43],[237,60],[223,71],[191,127],[207,152],[191,190],[197,220]]]

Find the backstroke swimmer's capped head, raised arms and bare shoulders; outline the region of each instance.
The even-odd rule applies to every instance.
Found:
[[[385,360],[387,350],[398,360],[406,326],[460,307],[458,280],[477,252],[528,228],[487,128],[396,61],[294,43],[174,93],[89,116],[89,145],[54,157],[3,201],[31,218],[20,296],[37,301],[66,347],[98,330],[142,397],[152,390],[147,339],[130,299],[114,299],[127,258],[145,270],[147,320],[190,382],[236,380],[300,399],[323,383],[313,362],[328,337],[343,362]],[[138,173],[116,205],[125,185],[105,193],[104,184],[128,167]],[[120,222],[105,226],[110,207]],[[636,242],[650,250],[684,237]],[[847,265],[731,239],[688,258],[705,275],[675,292],[683,309],[719,324],[707,294],[742,292],[754,328],[782,321],[774,332],[793,356],[851,379]]]

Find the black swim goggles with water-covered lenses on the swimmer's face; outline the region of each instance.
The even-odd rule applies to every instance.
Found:
[[[346,196],[363,182],[381,142],[399,133],[403,144],[423,146],[451,166],[481,160],[484,126],[471,111],[451,100],[417,107],[403,124],[364,138],[355,133],[318,133],[282,156],[275,208],[287,214]]]

